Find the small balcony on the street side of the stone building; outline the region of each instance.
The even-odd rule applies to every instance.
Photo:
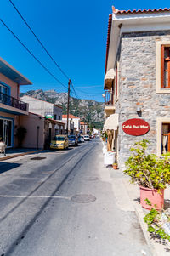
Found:
[[[113,92],[105,91],[105,117],[109,117],[115,111]]]

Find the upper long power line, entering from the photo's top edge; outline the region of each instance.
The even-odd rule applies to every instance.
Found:
[[[22,16],[22,14],[20,14],[20,11],[16,8],[16,6],[14,5],[14,3],[9,0],[9,2],[14,6],[14,9],[17,11],[17,13],[20,15],[20,18],[26,23],[26,26],[29,28],[29,30],[31,31],[31,33],[34,35],[34,37],[36,37],[38,43],[40,43],[40,45],[42,46],[42,48],[44,49],[44,51],[48,54],[49,58],[51,60],[53,60],[54,64],[59,68],[59,71],[62,72],[62,74],[69,80],[70,78],[66,75],[65,71],[63,71],[61,69],[61,67],[59,66],[59,64],[57,64],[57,62],[54,60],[54,58],[51,56],[51,54],[49,54],[47,48],[45,48],[45,46],[42,44],[42,42],[40,41],[40,39],[37,37],[37,35],[35,34],[35,32],[31,29],[31,26],[28,25],[28,23],[26,22],[26,20],[24,19],[24,17]]]

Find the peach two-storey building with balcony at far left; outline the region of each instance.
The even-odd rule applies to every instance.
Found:
[[[8,148],[18,145],[15,134],[20,117],[28,115],[28,104],[20,100],[20,86],[29,84],[31,81],[0,58],[0,137]]]

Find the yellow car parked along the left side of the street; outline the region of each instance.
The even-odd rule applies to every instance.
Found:
[[[55,135],[51,140],[50,149],[52,150],[64,150],[69,147],[68,137],[66,135]]]

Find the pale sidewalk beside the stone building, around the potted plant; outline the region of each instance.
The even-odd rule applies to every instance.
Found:
[[[139,224],[144,232],[146,242],[150,246],[153,256],[166,256],[170,252],[170,242],[166,244],[160,239],[151,238],[150,233],[147,231],[147,225],[144,222],[144,215],[149,213],[148,210],[141,207],[139,203],[139,186],[129,183],[127,176],[122,174],[119,169],[114,170],[112,167],[105,168],[111,177],[112,188],[116,196],[116,203],[119,208],[124,211],[130,211],[132,208],[135,210],[139,219]],[[170,187],[165,190],[165,208],[170,207]]]

